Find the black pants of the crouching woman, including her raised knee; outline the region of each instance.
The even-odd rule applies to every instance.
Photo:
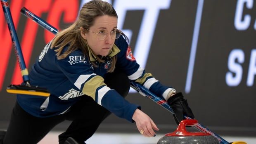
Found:
[[[128,77],[121,72],[108,73],[104,83],[125,97],[130,85]],[[59,135],[59,144],[63,144],[68,137],[73,137],[83,144],[99,127],[100,123],[109,116],[110,112],[97,104],[89,96],[81,96],[82,99],[71,106],[68,113],[50,118],[34,117],[24,111],[16,103],[12,111],[11,120],[3,144],[36,144],[55,125],[64,120],[72,120],[66,132]]]

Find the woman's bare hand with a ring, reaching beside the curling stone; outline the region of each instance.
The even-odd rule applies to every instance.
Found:
[[[137,129],[145,137],[155,137],[154,130],[159,130],[156,124],[153,122],[146,113],[143,113],[139,109],[136,109],[133,113],[133,120],[136,122]],[[154,130],[153,130],[154,129]]]

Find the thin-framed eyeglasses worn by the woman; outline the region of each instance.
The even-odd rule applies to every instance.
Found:
[[[91,31],[89,30],[88,28],[86,28],[88,31]],[[111,31],[111,32],[107,32],[107,31],[104,31],[104,30],[101,30],[101,31],[98,31],[97,33],[95,33],[94,31],[91,31],[92,33],[94,33],[98,40],[105,40],[107,38],[107,35],[110,33],[110,36],[112,39],[117,39],[120,37],[121,35],[121,31],[120,30],[114,30],[114,31]]]

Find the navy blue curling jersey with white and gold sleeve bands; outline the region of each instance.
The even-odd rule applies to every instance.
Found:
[[[90,48],[88,48],[89,57],[77,49],[66,58],[58,60],[55,48],[51,49],[50,45],[51,42],[45,46],[29,73],[31,85],[47,88],[50,97],[17,94],[19,105],[33,116],[50,117],[65,113],[83,95],[88,95],[116,116],[132,121],[133,113],[139,106],[129,103],[104,83],[104,75],[111,66],[111,57],[115,55],[117,55],[116,68],[124,71],[130,80],[135,80],[165,99],[172,90],[171,87],[161,85],[152,74],[145,73],[145,70],[137,64],[128,43],[122,36],[115,40],[115,45],[107,56],[109,59],[103,63],[97,61]],[[62,53],[68,47],[68,45],[64,47]]]

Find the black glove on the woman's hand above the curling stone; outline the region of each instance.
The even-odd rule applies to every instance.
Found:
[[[187,99],[184,99],[181,92],[171,96],[167,102],[175,113],[173,117],[177,125],[179,125],[180,121],[184,119],[184,115],[194,119],[194,114],[187,104]]]

